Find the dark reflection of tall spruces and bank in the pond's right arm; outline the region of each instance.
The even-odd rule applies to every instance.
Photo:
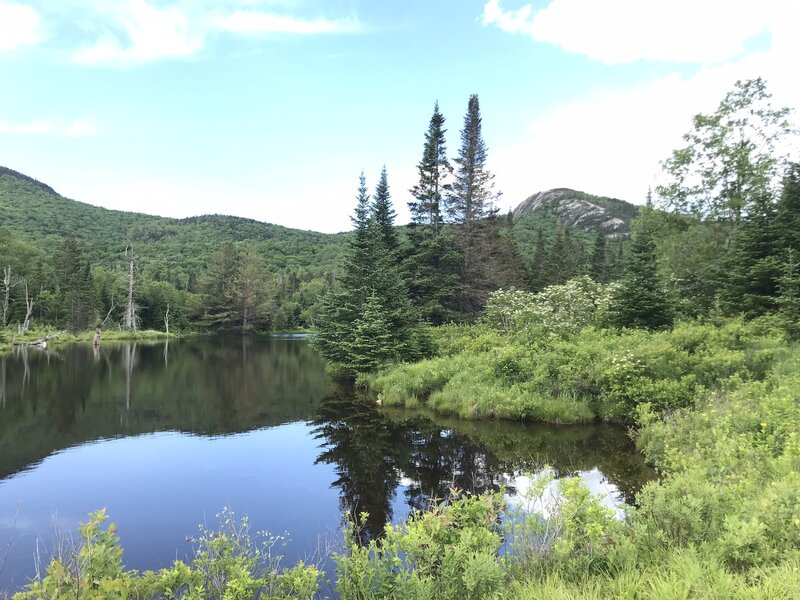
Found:
[[[621,428],[467,422],[380,409],[346,390],[323,400],[314,434],[323,447],[317,462],[334,466],[342,511],[356,520],[368,513],[362,541],[380,536],[384,523],[446,498],[453,488],[502,488],[519,503],[530,477],[547,469],[556,478],[581,477],[616,506],[633,503],[636,491],[654,477]],[[398,505],[401,515],[394,514]]]

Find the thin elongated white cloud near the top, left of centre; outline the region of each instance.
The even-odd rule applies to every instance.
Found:
[[[241,35],[261,35],[267,33],[288,33],[295,35],[314,35],[324,33],[357,33],[361,24],[357,19],[325,18],[300,19],[297,17],[275,15],[264,12],[237,11],[217,20],[217,26],[231,33]]]

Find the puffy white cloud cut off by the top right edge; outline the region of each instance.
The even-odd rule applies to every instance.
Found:
[[[535,10],[483,8],[484,25],[528,35],[607,64],[639,60],[714,63],[740,56],[771,31],[786,0],[552,0]]]

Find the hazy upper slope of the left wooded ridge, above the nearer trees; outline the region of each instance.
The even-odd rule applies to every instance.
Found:
[[[224,204],[220,198],[220,205]],[[169,198],[164,198],[169,202]],[[148,270],[199,274],[210,254],[224,241],[251,240],[280,272],[332,269],[338,263],[342,234],[291,229],[253,219],[205,215],[170,219],[109,210],[64,198],[50,186],[0,167],[0,228],[50,254],[72,235],[93,264],[120,259],[132,246]]]

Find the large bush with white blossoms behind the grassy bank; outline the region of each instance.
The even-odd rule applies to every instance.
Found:
[[[618,284],[602,284],[581,276],[551,285],[538,294],[522,290],[497,290],[489,296],[484,321],[504,333],[540,325],[569,333],[597,323]]]

